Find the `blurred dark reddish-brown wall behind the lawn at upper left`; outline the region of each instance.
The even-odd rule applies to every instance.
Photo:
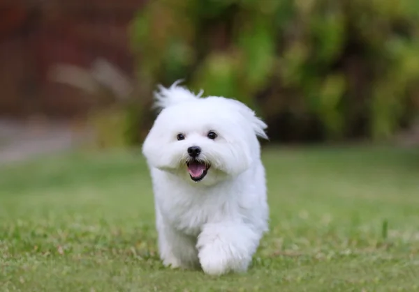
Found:
[[[127,28],[144,0],[39,2],[0,2],[0,116],[85,112],[87,93],[48,78],[57,63],[89,68],[102,57],[133,74]]]

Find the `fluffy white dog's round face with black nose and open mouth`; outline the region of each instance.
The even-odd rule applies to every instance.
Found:
[[[241,174],[258,158],[261,125],[241,102],[200,98],[163,109],[142,150],[152,167],[212,185]]]

